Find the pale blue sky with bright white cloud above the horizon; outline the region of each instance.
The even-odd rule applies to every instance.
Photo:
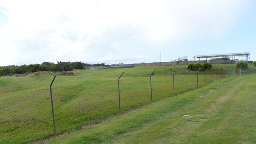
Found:
[[[255,46],[255,0],[0,0],[0,66],[236,52],[256,61]]]

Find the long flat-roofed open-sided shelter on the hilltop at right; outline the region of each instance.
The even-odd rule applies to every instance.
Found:
[[[246,56],[246,61],[248,61],[248,55],[250,55],[249,52],[241,52],[241,53],[230,53],[230,54],[211,54],[211,55],[195,55],[193,56],[194,57],[194,61],[195,61],[195,58],[197,57],[200,61],[200,58],[206,58],[206,61],[207,61],[207,58],[209,58],[210,60],[213,60],[211,58],[215,58],[215,60],[221,60],[221,59],[225,59],[227,60],[227,58],[230,60],[230,57],[232,58],[232,60],[236,60],[235,57],[241,57],[241,56]],[[216,59],[217,58],[217,59]],[[224,60],[223,59],[223,60]]]

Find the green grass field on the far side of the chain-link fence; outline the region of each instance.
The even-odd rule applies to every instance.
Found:
[[[118,114],[117,78],[122,71],[125,72],[120,81],[122,112],[151,102],[149,76],[154,69],[153,101],[173,96],[172,74],[176,68],[180,70],[175,76],[175,94],[181,94],[186,92],[185,66],[80,70],[75,71],[79,73],[77,76],[57,77],[53,89],[56,132],[80,129]],[[49,87],[51,80],[52,76],[0,77],[0,143],[25,143],[53,135],[50,92],[43,89]],[[195,72],[190,72],[188,90],[197,88],[196,81]],[[206,83],[210,82],[208,72]],[[198,87],[204,84],[204,72],[199,72]]]

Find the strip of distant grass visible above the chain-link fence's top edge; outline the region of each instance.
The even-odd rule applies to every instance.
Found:
[[[226,66],[232,68],[234,65],[214,65]],[[152,70],[156,69],[156,74],[172,74],[173,70],[179,68],[182,71],[186,69],[186,65],[182,66],[150,66],[137,68],[112,68],[100,70],[78,70],[78,76],[58,76],[54,81],[55,86],[80,85],[86,83],[94,83],[99,81],[117,80],[121,72],[125,72],[123,78],[145,77],[149,76]],[[169,70],[169,71],[168,71]],[[0,93],[14,92],[22,90],[32,90],[48,88],[52,77],[0,77]]]

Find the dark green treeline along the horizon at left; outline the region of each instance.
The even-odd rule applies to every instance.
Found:
[[[104,63],[88,64],[82,63],[81,61],[74,62],[62,62],[58,61],[57,64],[43,62],[42,64],[31,64],[31,65],[11,65],[11,66],[0,66],[0,76],[9,76],[13,74],[24,74],[40,71],[73,71],[73,69],[80,69],[83,66],[107,66]]]

